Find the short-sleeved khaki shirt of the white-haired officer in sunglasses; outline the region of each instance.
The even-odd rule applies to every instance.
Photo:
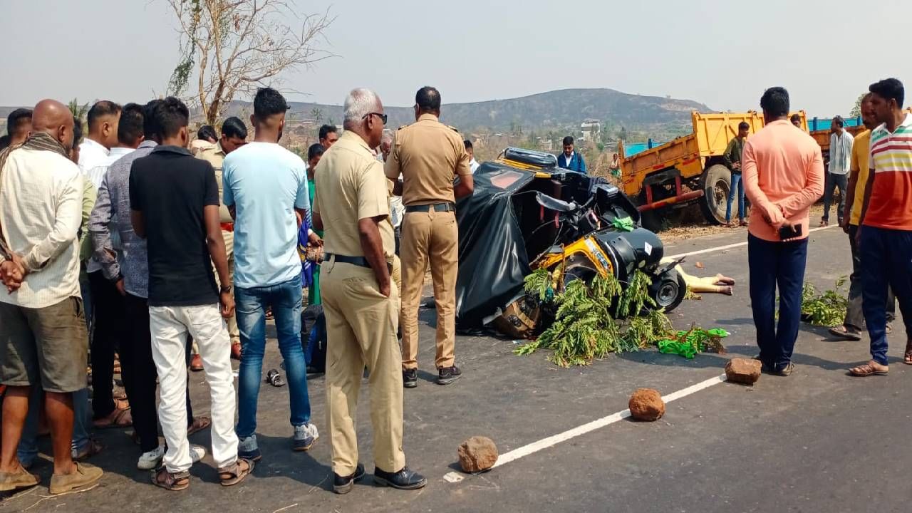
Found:
[[[389,219],[387,179],[383,165],[368,143],[353,131],[345,131],[323,154],[314,171],[314,213],[323,221],[324,251],[345,257],[364,257],[358,220],[386,216]],[[396,251],[392,225],[379,224],[383,253],[392,261]]]

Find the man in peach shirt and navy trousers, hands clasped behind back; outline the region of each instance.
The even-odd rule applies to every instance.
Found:
[[[789,93],[766,89],[766,126],[744,144],[744,193],[754,212],[748,226],[751,309],[763,370],[793,371],[807,261],[808,209],[824,193],[824,159],[814,139],[789,122]],[[776,326],[776,286],[779,326]]]

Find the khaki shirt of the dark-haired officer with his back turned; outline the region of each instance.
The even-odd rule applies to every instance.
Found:
[[[455,203],[453,179],[471,175],[465,144],[458,131],[444,125],[432,114],[396,132],[389,152],[386,175],[392,181],[402,175],[402,203]]]

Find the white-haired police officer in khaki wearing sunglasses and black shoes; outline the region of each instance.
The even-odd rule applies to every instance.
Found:
[[[402,375],[396,327],[399,291],[392,285],[393,231],[383,165],[370,148],[387,116],[377,95],[355,89],[345,101],[345,131],[316,165],[314,225],[324,230],[320,270],[326,312],[326,404],[333,489],[351,491],[364,476],[354,418],[368,367],[374,427],[374,482],[399,489],[428,480],[405,466]]]

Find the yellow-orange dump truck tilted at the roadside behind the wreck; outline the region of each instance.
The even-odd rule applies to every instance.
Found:
[[[803,130],[807,116],[798,112]],[[725,222],[725,205],[731,190],[731,171],[722,160],[729,141],[737,135],[738,125],[746,121],[751,133],[763,127],[763,116],[754,111],[692,112],[693,132],[636,154],[618,142],[621,162],[621,188],[637,202],[644,223],[658,224],[668,208],[700,202],[710,223]],[[749,136],[750,137],[750,136]],[[732,218],[738,204],[731,205]]]

